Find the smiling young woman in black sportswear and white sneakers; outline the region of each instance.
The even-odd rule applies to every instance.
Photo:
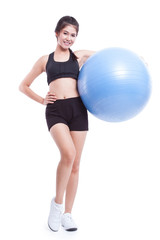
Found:
[[[48,129],[61,154],[56,174],[56,196],[51,201],[48,218],[48,226],[53,231],[58,231],[61,224],[65,230],[77,230],[71,211],[78,186],[80,158],[88,130],[87,110],[77,90],[77,79],[80,67],[94,53],[86,50],[74,53],[71,51],[70,47],[76,40],[78,30],[79,24],[75,18],[62,17],[55,29],[55,51],[42,56],[20,84],[20,91],[46,105]],[[33,92],[30,86],[35,78],[45,71],[49,92],[43,98]]]

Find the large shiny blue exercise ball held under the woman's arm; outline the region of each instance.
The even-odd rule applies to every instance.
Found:
[[[108,122],[136,116],[146,105],[151,81],[145,63],[124,48],[107,48],[81,68],[78,91],[90,113]]]

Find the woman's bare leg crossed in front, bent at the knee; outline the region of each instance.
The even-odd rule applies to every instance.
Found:
[[[58,123],[51,128],[50,133],[61,154],[61,160],[57,168],[55,202],[62,204],[76,156],[76,147],[67,125]]]

